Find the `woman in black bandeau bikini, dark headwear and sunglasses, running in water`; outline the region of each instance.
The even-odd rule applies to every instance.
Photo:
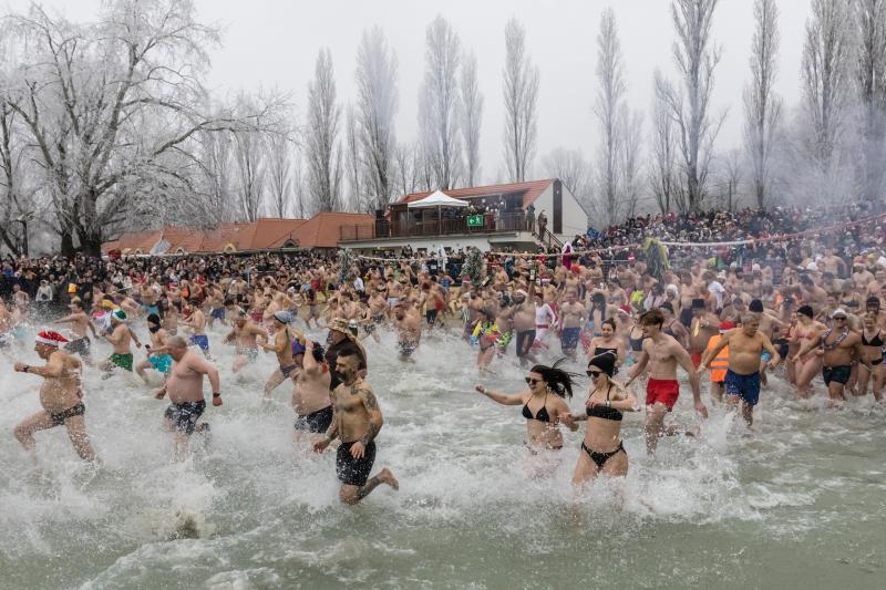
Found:
[[[573,484],[580,485],[602,473],[609,476],[625,476],[628,473],[628,454],[621,445],[622,412],[637,412],[637,398],[612,381],[616,370],[616,355],[605,352],[590,359],[588,376],[590,395],[585,402],[585,414],[560,416],[570,428],[576,421],[586,420],[585,441],[578,454]]]

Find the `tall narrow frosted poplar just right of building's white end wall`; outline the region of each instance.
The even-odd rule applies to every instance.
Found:
[[[597,34],[597,100],[594,112],[599,125],[600,144],[596,163],[595,187],[600,199],[598,210],[606,225],[615,224],[621,215],[621,144],[625,122],[625,83],[621,44],[618,40],[616,14],[607,8],[600,18]]]

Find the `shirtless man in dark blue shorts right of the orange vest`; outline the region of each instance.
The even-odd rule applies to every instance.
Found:
[[[727,406],[734,408],[741,400],[741,414],[750,428],[754,423],[754,406],[760,401],[760,358],[763,351],[769,353],[770,369],[775,369],[781,358],[769,337],[759,331],[760,318],[748,312],[740,320],[741,328],[730,330],[720,338],[707,354],[707,362],[699,369],[699,373],[707,370],[720,351],[729,346]]]

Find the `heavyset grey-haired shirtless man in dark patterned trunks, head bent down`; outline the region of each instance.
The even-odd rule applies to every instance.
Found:
[[[187,342],[182,337],[172,337],[161,353],[169,353],[175,361],[173,371],[163,385],[154,394],[157,400],[169,394],[169,407],[163,417],[166,429],[175,433],[174,457],[184,460],[187,455],[188,437],[194,431],[206,432],[208,424],[197,427],[203,412],[206,410],[206,400],[203,395],[203,375],[209,376],[213,387],[213,405],[222,405],[222,382],[218,380],[218,370],[206,359],[199,358],[194,351],[188,350]]]

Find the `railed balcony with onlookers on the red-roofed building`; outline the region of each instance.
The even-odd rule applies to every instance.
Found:
[[[534,219],[523,211],[472,215],[468,224],[467,215],[437,217],[437,211],[391,211],[393,221],[378,219],[374,224],[342,226],[339,241],[361,241],[385,238],[416,238],[434,236],[455,236],[475,234],[499,234],[530,231]],[[478,219],[482,218],[482,219]]]

